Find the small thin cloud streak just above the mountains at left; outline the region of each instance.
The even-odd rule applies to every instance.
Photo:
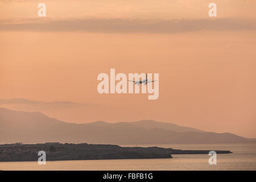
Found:
[[[53,102],[33,101],[33,100],[28,100],[26,98],[0,99],[0,105],[23,105],[29,109],[36,109],[36,110],[96,106],[94,104],[77,103],[77,102],[70,102],[70,101],[53,101]]]

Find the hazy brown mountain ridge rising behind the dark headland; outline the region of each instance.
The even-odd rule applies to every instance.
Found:
[[[230,133],[212,133],[172,123],[142,120],[136,122],[67,123],[39,112],[0,108],[0,143],[250,143]]]

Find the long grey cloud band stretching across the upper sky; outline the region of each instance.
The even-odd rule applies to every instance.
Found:
[[[254,19],[23,19],[0,20],[0,31],[81,31],[105,33],[176,33],[256,30]]]

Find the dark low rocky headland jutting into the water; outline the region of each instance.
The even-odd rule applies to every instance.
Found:
[[[40,157],[39,151],[46,152],[46,160],[166,159],[172,158],[171,154],[209,154],[208,150],[183,151],[160,147],[120,147],[110,144],[3,144],[0,145],[0,162],[37,161]]]

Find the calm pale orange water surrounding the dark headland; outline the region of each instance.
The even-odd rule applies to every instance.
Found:
[[[129,145],[131,146],[131,145]],[[0,162],[0,170],[256,170],[256,144],[158,144],[182,150],[230,150],[217,154],[217,164],[209,165],[208,155],[172,155],[172,159],[70,160]]]

